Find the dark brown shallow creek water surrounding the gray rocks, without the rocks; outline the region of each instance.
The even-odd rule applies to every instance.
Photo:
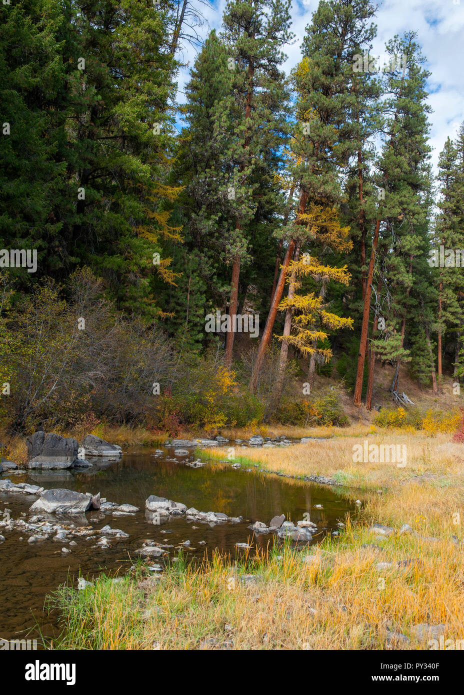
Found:
[[[204,460],[207,455],[205,450]],[[67,580],[76,585],[80,573],[88,578],[101,571],[119,575],[126,573],[138,557],[134,551],[147,539],[172,544],[164,562],[167,557],[176,557],[179,552],[176,546],[186,540],[191,543],[185,548],[188,557],[201,559],[205,553],[211,555],[216,548],[234,557],[240,553],[235,543],[249,541],[261,547],[272,543],[272,534],[254,536],[248,527],[255,521],[269,524],[276,514],[285,514],[296,524],[308,518],[307,515],[304,517],[308,512],[310,521],[317,525],[311,542],[317,543],[324,534],[337,530],[337,523],[343,521],[346,512],[356,514],[354,505],[328,486],[264,475],[256,470],[234,469],[231,463],[208,461],[200,468],[190,468],[185,465],[189,460],[190,457],[176,459],[172,449],[165,448],[163,455],[155,457],[154,449],[140,448],[125,453],[122,459],[106,467],[97,466],[83,472],[3,474],[3,479],[9,478],[14,483],[28,482],[45,489],[100,492],[111,502],[140,507],[140,512],[117,517],[89,512],[87,523],[92,528],[98,530],[109,524],[111,528],[129,533],[129,538],[110,539],[110,548],[99,548],[95,547],[98,535],[91,539],[78,537],[74,539],[77,546],[68,555],[61,552],[63,543],[53,542],[51,537],[28,544],[31,532],[0,528],[0,533],[6,537],[0,543],[0,638],[24,639],[28,634],[33,639],[40,632],[44,637],[56,635],[53,616],[50,618],[43,612],[45,595]],[[243,521],[210,525],[186,521],[185,517],[172,517],[154,525],[147,520],[144,509],[145,500],[150,495],[183,502],[187,507],[196,507],[202,512],[242,516]],[[35,496],[0,493],[0,518],[8,510],[12,518],[28,521],[28,509],[36,499]],[[315,509],[315,505],[323,508]],[[22,512],[26,516],[22,516]],[[48,518],[52,523],[72,522],[71,517],[67,517],[67,521],[54,515],[48,515]],[[81,525],[81,522],[76,525]],[[67,543],[64,546],[69,548]],[[162,564],[163,559],[156,562]]]

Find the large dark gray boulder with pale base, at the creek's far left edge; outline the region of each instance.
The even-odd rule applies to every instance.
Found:
[[[77,458],[78,443],[60,434],[34,432],[26,439],[28,468],[71,468]]]

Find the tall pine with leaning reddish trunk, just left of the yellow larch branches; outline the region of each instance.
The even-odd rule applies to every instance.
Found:
[[[352,68],[356,51],[368,45],[374,35],[374,27],[368,24],[373,15],[374,8],[367,0],[321,1],[306,28],[304,57],[294,72],[298,124],[292,150],[298,197],[293,219],[281,230],[287,251],[254,364],[252,392],[256,391],[295,245],[307,238],[305,215],[313,215],[318,208],[330,211],[340,207],[340,174],[366,135],[352,117],[356,111]],[[361,80],[358,92],[360,84]],[[367,93],[356,113],[367,108],[366,100]]]

